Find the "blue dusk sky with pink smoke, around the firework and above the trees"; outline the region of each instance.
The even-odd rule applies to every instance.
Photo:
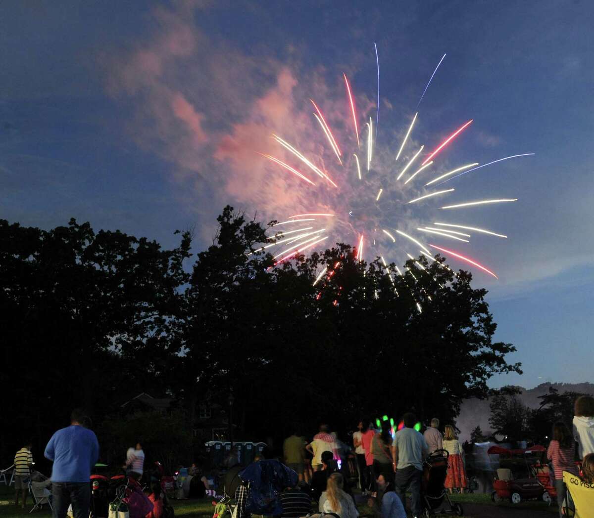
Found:
[[[588,381],[593,25],[594,5],[584,1],[372,7],[331,1],[5,1],[0,217],[43,228],[75,217],[165,246],[175,243],[176,228],[195,225],[202,247],[227,203],[266,219],[307,211],[308,202],[317,208],[349,202],[359,192],[355,187],[342,198],[311,195],[294,179],[279,177],[254,151],[276,152],[268,138],[275,131],[335,177],[347,174],[347,165],[337,168],[323,151],[307,98],[323,105],[345,150],[352,148],[342,74],[355,92],[359,123],[365,116],[375,119],[377,42],[377,170],[362,186],[383,185],[426,81],[447,53],[419,107],[405,155],[418,144],[434,148],[469,119],[474,122],[444,150],[440,167],[535,153],[444,184],[456,188],[456,202],[519,199],[445,219],[500,231],[507,240],[473,236],[472,246],[440,241],[500,278],[476,272],[475,285],[489,289],[495,338],[517,346],[509,359],[522,361],[525,374],[492,384]],[[428,219],[434,217],[444,221],[434,205],[425,205],[426,212],[386,207],[378,214],[402,218],[394,223],[399,228],[414,230],[413,223],[439,221]],[[336,236],[347,239],[345,228]]]

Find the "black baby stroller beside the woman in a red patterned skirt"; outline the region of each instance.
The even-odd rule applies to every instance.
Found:
[[[450,509],[440,509],[437,511],[438,513],[457,514],[457,516],[463,516],[464,514],[460,504],[451,503],[450,497],[444,488],[448,456],[449,453],[446,450],[435,450],[424,462],[421,495],[426,518],[434,516],[435,510],[441,507],[444,500],[447,501]]]

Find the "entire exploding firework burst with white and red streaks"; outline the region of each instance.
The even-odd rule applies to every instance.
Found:
[[[420,252],[427,259],[431,260],[432,255],[429,247],[443,253],[447,258],[460,260],[463,263],[478,269],[478,271],[492,275],[497,278],[490,269],[481,265],[476,260],[467,257],[466,250],[460,253],[434,244],[428,244],[426,239],[457,241],[462,246],[470,243],[473,233],[493,237],[507,237],[504,234],[495,233],[475,227],[470,217],[463,221],[447,221],[444,223],[428,223],[419,225],[419,221],[429,220],[430,215],[436,212],[456,213],[475,206],[501,204],[504,202],[516,201],[516,198],[484,199],[479,201],[453,201],[451,204],[444,204],[443,199],[452,196],[454,189],[435,189],[436,185],[448,182],[462,174],[471,173],[482,167],[509,160],[510,158],[525,157],[533,153],[511,155],[499,158],[484,164],[475,161],[468,161],[454,169],[447,170],[444,167],[441,157],[443,151],[464,138],[470,131],[473,119],[460,125],[460,121],[454,121],[453,128],[448,129],[447,138],[443,141],[427,142],[431,152],[422,155],[425,144],[412,142],[413,128],[415,122],[422,118],[418,112],[418,106],[425,95],[429,84],[433,80],[437,69],[445,58],[441,58],[435,68],[425,90],[419,99],[415,113],[412,113],[409,122],[404,125],[405,136],[402,141],[397,142],[393,149],[375,149],[377,141],[377,119],[379,116],[379,84],[380,84],[380,63],[378,59],[377,46],[375,46],[375,58],[377,63],[377,86],[378,98],[375,113],[376,120],[372,117],[361,117],[357,113],[357,96],[349,82],[346,74],[343,74],[346,93],[346,104],[342,120],[331,120],[323,114],[323,104],[316,103],[309,99],[311,107],[315,111],[312,114],[311,140],[318,143],[320,147],[328,152],[328,157],[333,158],[333,169],[327,171],[324,160],[321,156],[307,155],[297,147],[289,144],[282,137],[282,133],[273,129],[273,139],[279,147],[279,152],[290,154],[286,161],[280,160],[271,154],[261,154],[264,158],[275,164],[279,174],[289,174],[295,182],[301,182],[300,189],[309,189],[305,195],[309,206],[306,214],[296,214],[283,218],[283,232],[276,235],[276,243],[265,244],[261,250],[265,250],[274,244],[290,244],[282,252],[276,253],[276,263],[282,263],[294,258],[298,253],[307,250],[311,252],[319,246],[327,246],[330,241],[343,241],[353,243],[356,249],[356,259],[375,259],[380,257],[384,265],[386,253],[397,253],[404,258],[412,258],[410,251]],[[336,118],[336,117],[335,117]],[[385,120],[385,119],[384,119]],[[374,125],[375,122],[375,125]],[[354,136],[345,133],[345,128],[350,128]],[[332,129],[335,128],[335,129]],[[339,131],[336,131],[336,128]],[[340,131],[342,129],[342,131]],[[343,142],[339,142],[338,136],[342,136]],[[345,152],[342,152],[345,150]],[[275,153],[276,154],[276,153]],[[394,160],[395,157],[395,160]],[[362,162],[362,163],[361,163]],[[364,167],[363,164],[365,164]],[[306,173],[307,170],[307,173]],[[315,179],[315,182],[314,182]],[[440,204],[437,204],[440,201]],[[448,209],[457,209],[450,211]],[[471,211],[465,212],[469,214]],[[307,221],[307,227],[302,222]],[[431,226],[434,225],[434,226]],[[293,230],[293,227],[295,230]],[[276,230],[276,229],[275,229]],[[462,232],[460,230],[465,230]],[[290,238],[287,238],[291,234]],[[295,235],[296,234],[296,235]],[[419,266],[420,265],[419,263]],[[447,266],[445,266],[447,268]],[[400,270],[396,267],[397,271]],[[412,275],[412,272],[410,272]],[[324,274],[330,275],[324,269],[315,279],[317,284]],[[400,272],[402,275],[402,272]],[[420,311],[419,307],[419,311]]]

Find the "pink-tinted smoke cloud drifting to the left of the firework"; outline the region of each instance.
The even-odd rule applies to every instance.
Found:
[[[208,192],[209,205],[239,202],[264,217],[329,205],[328,195],[336,192],[328,193],[326,180],[271,135],[282,136],[321,169],[330,167],[330,176],[343,174],[308,99],[315,97],[345,150],[356,146],[342,76],[327,84],[326,69],[318,67],[301,84],[295,49],[290,64],[273,53],[244,55],[208,39],[184,5],[154,11],[156,33],[106,61],[108,91],[134,107],[132,138],[178,166],[172,181],[181,184],[184,202],[188,189],[196,199]],[[361,117],[374,107],[361,93],[357,101]],[[316,188],[259,153],[295,167]]]

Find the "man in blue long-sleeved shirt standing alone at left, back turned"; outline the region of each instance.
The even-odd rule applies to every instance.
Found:
[[[65,518],[72,504],[74,518],[89,518],[91,467],[99,459],[99,443],[93,431],[81,424],[85,414],[72,411],[71,425],[56,431],[45,447],[46,459],[53,460],[53,518]]]

